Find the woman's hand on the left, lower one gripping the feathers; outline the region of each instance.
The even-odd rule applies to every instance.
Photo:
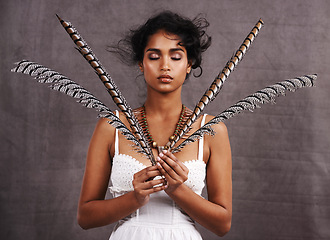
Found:
[[[165,180],[154,179],[162,174],[157,166],[146,167],[143,170],[134,174],[133,187],[135,198],[141,206],[145,205],[150,198],[150,194],[162,191],[166,188]],[[159,185],[159,186],[157,186]]]

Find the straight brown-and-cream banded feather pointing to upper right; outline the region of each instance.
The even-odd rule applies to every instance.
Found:
[[[230,73],[234,71],[234,68],[242,60],[243,56],[258,35],[262,25],[263,21],[260,19],[252,28],[248,36],[245,38],[239,49],[236,51],[235,55],[227,62],[226,66],[212,82],[210,88],[204,93],[200,101],[197,103],[191,117],[185,123],[185,126],[181,129],[180,133],[176,136],[176,138],[170,143],[170,148],[172,148],[180,140],[180,138],[187,132],[187,130],[189,130],[191,125],[196,121],[196,119],[202,114],[204,108],[218,95],[225,80],[229,77]]]

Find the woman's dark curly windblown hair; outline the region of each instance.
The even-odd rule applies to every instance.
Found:
[[[205,32],[208,26],[208,21],[200,15],[190,20],[171,11],[163,11],[149,18],[140,27],[130,30],[129,34],[109,51],[118,53],[121,59],[130,65],[138,64],[143,61],[149,37],[159,30],[164,30],[180,37],[180,44],[187,50],[192,69],[200,68],[200,74],[197,76],[199,77],[202,75],[202,53],[211,45],[211,37]]]

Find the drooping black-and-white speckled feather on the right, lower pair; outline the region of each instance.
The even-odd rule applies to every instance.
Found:
[[[215,116],[208,123],[190,135],[179,146],[174,148],[172,152],[179,152],[180,149],[182,149],[184,146],[196,141],[197,139],[200,139],[204,134],[213,135],[214,130],[211,128],[211,126],[214,124],[224,122],[225,120],[228,120],[243,111],[252,111],[255,108],[260,108],[261,104],[275,103],[275,99],[281,95],[285,95],[286,91],[294,92],[297,89],[303,87],[314,86],[314,81],[316,78],[316,74],[305,75],[294,79],[285,80],[257,91],[256,93],[242,99],[241,101],[238,101],[235,105],[227,108],[225,111]]]

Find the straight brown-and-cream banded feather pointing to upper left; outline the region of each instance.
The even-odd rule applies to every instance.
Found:
[[[101,62],[97,59],[92,49],[87,45],[86,41],[81,37],[78,31],[70,22],[62,20],[58,15],[56,15],[61,22],[64,29],[70,35],[71,39],[77,46],[77,50],[81,55],[88,61],[91,67],[95,70],[95,73],[99,76],[104,86],[107,88],[109,94],[111,95],[113,101],[116,103],[118,108],[125,114],[127,121],[130,124],[133,134],[138,139],[140,146],[143,148],[143,153],[150,159],[151,163],[156,164],[152,150],[148,144],[146,137],[143,134],[143,130],[139,125],[137,119],[135,118],[131,107],[126,102],[126,99],[119,91],[118,87],[107,73],[107,71],[102,66]]]

